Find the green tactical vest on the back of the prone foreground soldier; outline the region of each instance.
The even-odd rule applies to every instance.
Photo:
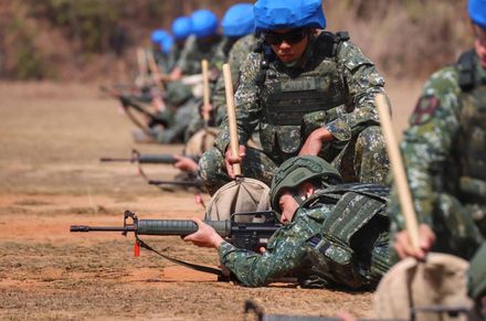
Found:
[[[335,204],[321,233],[308,240],[317,275],[355,289],[378,283],[390,267],[388,193],[382,185],[340,184],[319,191],[300,205],[313,208]],[[371,261],[370,253],[378,243],[383,250]]]

